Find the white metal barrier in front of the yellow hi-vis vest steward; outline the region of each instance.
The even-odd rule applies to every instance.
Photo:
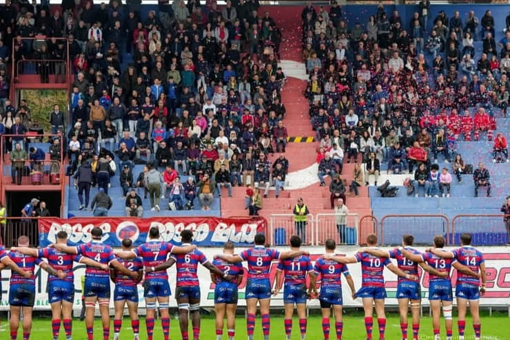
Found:
[[[290,235],[299,235],[303,244],[315,244],[314,215],[308,214],[303,222],[296,222],[294,216],[292,213],[278,213],[269,217],[269,244],[287,246]]]

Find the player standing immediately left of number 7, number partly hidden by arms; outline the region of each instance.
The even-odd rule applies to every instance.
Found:
[[[129,238],[122,240],[122,250],[131,251],[133,242]],[[143,264],[140,257],[134,259],[121,259],[121,264],[129,270],[138,272],[139,279],[134,280],[128,275],[119,275],[115,269],[110,270],[110,279],[115,283],[113,292],[113,301],[115,306],[115,317],[113,319],[114,340],[119,340],[122,328],[122,317],[124,315],[124,306],[128,305],[130,313],[131,328],[133,330],[133,339],[139,340],[140,320],[138,317],[138,288],[137,285],[143,277]]]

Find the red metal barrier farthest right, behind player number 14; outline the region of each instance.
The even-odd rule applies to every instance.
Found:
[[[473,245],[510,242],[510,215],[456,215],[451,220],[451,244],[460,244],[462,233],[471,234]]]

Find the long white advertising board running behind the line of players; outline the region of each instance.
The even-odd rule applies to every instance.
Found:
[[[323,254],[323,248],[307,248],[310,252],[310,257],[312,258],[312,262],[315,262]],[[420,248],[418,248],[420,249]],[[480,251],[484,254],[485,265],[487,267],[487,293],[485,293],[484,297],[480,300],[480,304],[482,306],[508,306],[510,304],[510,253],[508,248],[505,247],[493,247],[493,248],[479,248]],[[285,248],[280,249],[281,251],[285,251]],[[420,249],[423,251],[423,248]],[[221,253],[221,248],[201,248],[201,251],[207,256],[210,261],[212,261],[215,254]],[[236,248],[236,252],[241,251],[241,248]],[[347,256],[354,255],[356,249],[349,248],[347,251],[342,251],[338,249],[338,254],[345,254]],[[276,265],[278,262],[273,262],[271,268],[271,284],[275,283],[276,276]],[[243,264],[246,267],[246,264]],[[354,279],[354,285],[356,286],[356,290],[358,290],[361,286],[361,268],[360,264],[349,264],[349,272],[351,273]],[[74,284],[76,288],[76,294],[74,297],[74,308],[81,308],[81,275],[85,272],[85,266],[81,264],[76,264],[74,267]],[[0,310],[8,309],[8,288],[9,282],[8,277],[10,276],[9,270],[2,271],[2,299],[0,301]],[[50,305],[48,304],[48,295],[46,293],[47,290],[47,277],[48,275],[41,269],[37,268],[36,271],[37,281],[36,281],[36,309],[50,309]],[[456,282],[456,271],[453,270],[452,274],[452,283],[453,290],[455,290],[455,282]],[[170,277],[170,287],[172,288],[172,295],[175,291],[175,268],[169,269],[169,277]],[[198,278],[201,286],[201,306],[203,307],[212,307],[214,306],[214,284],[211,282],[210,273],[203,266],[199,266],[198,268]],[[397,306],[396,299],[396,286],[397,286],[397,277],[389,270],[385,269],[385,280],[386,280],[386,290],[387,290],[387,306]],[[345,278],[343,281],[343,304],[347,307],[359,307],[361,306],[361,299],[353,300],[351,298],[351,292],[349,287],[347,286],[347,282]],[[319,278],[320,282],[320,278]],[[428,305],[428,294],[429,294],[429,279],[428,274],[424,273],[420,270],[420,284],[422,286],[422,304]],[[246,286],[246,269],[243,275],[243,281],[239,286],[239,306],[245,306],[245,286]],[[112,292],[114,285],[111,286]],[[283,306],[283,290],[279,295],[272,297],[271,306],[281,307]],[[113,293],[112,293],[113,296]],[[139,297],[141,308],[145,307],[145,302],[143,301],[143,287],[139,285]],[[453,299],[453,303],[455,304],[455,299]],[[110,302],[113,308],[113,301]],[[309,306],[318,308],[319,303],[317,299],[309,300],[307,302]],[[170,306],[175,308],[177,306],[176,300],[174,297],[170,298]],[[143,312],[143,311],[142,311]]]

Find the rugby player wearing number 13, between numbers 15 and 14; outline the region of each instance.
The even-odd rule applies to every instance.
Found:
[[[447,252],[443,247],[445,246],[445,237],[438,235],[433,239],[434,247],[438,252]],[[445,316],[445,326],[447,332],[447,340],[451,340],[452,337],[452,301],[453,294],[451,291],[451,267],[456,268],[458,272],[471,275],[473,277],[480,278],[480,275],[474,273],[471,269],[462,266],[462,264],[456,262],[454,259],[443,259],[438,257],[431,252],[431,248],[427,249],[427,252],[422,254],[414,254],[407,251],[405,248],[399,247],[398,250],[407,259],[413,262],[421,263],[426,262],[432,268],[438,270],[440,273],[447,273],[447,277],[438,277],[436,275],[429,275],[429,301],[432,309],[432,326],[434,339],[440,339],[440,312],[442,306],[442,314]]]

